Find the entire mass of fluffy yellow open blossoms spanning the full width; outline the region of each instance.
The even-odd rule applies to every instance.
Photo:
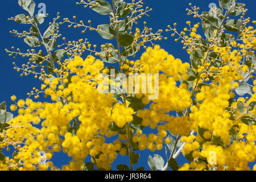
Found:
[[[249,100],[238,98],[237,102],[233,102],[231,107],[235,109],[235,119],[230,119],[230,111],[227,110],[229,100],[234,97],[233,90],[239,85],[238,80],[243,78],[241,71],[248,72],[248,67],[241,67],[242,56],[236,50],[231,53],[229,47],[214,47],[213,50],[221,53],[226,65],[217,68],[204,63],[197,70],[193,69],[200,73],[193,84],[207,81],[209,76],[218,71],[211,84],[195,87],[197,104],[192,102],[194,98],[188,85],[182,83],[189,77],[188,63],[175,59],[159,46],[148,47],[140,60],[127,60],[122,69],[128,73],[160,73],[157,98],[148,98],[149,93],[135,94],[137,100],[141,99],[144,105],[149,105],[148,109],[137,112],[128,106],[128,101],[126,105],[119,104],[113,94],[98,92],[97,87],[102,81],[98,76],[104,69],[102,61],[93,56],[88,56],[85,60],[79,56],[66,60],[65,67],[61,68],[63,75],[59,78],[50,75],[41,86],[42,92],[46,97],[50,96],[52,102],[34,102],[29,98],[16,102],[16,97],[11,97],[15,104],[10,109],[18,109],[19,115],[10,121],[7,133],[1,135],[3,140],[0,148],[13,145],[17,155],[15,159],[6,158],[5,163],[0,163],[1,169],[59,170],[49,160],[55,152],[61,150],[72,157],[69,164],[62,167],[64,170],[82,169],[88,155],[97,168],[112,169],[111,164],[118,152],[127,155],[129,138],[127,134],[110,130],[109,126],[114,122],[119,128],[126,127],[126,124],[133,121],[134,114],[142,118],[144,127],[157,130],[156,134],[146,135],[142,130],[134,132],[130,129],[130,140],[138,144],[139,150],[162,150],[164,143],[171,142],[168,132],[181,136],[181,142],[185,143],[182,152],[184,155],[192,155],[193,161],[184,164],[180,170],[204,170],[212,167],[219,170],[249,169],[248,162],[254,162],[256,156],[255,125],[245,125],[241,117],[249,114],[241,115],[236,107],[239,101],[244,105],[255,101],[256,90],[254,87]],[[108,73],[109,70],[104,69],[102,72]],[[149,78],[148,75],[146,77]],[[171,111],[184,110],[189,111],[189,115],[170,115]],[[256,110],[251,110],[250,113],[256,114]],[[230,139],[230,130],[234,125],[237,141]],[[203,138],[198,133],[199,127],[205,130]],[[189,135],[192,130],[197,132],[196,137]],[[117,134],[118,139],[113,143],[106,143],[106,138]],[[213,143],[213,138],[218,139],[219,143]],[[47,160],[43,164],[40,163],[40,151],[46,153]]]

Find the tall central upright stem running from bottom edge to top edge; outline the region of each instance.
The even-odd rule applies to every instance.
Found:
[[[116,20],[115,17],[115,4],[114,4],[114,0],[112,0],[113,3],[113,14],[114,14],[114,21]],[[118,30],[115,30],[116,32],[116,36],[115,39],[117,40],[117,47],[118,47],[118,63],[119,63],[119,67],[120,67],[120,73],[123,72],[122,70],[122,59],[121,59],[121,50],[120,50],[120,44],[119,44],[119,37],[118,37]],[[122,93],[122,100],[123,100],[123,104],[126,106],[126,97],[125,97],[125,93]],[[126,123],[126,127],[127,127],[127,138],[128,138],[128,147],[129,147],[129,161],[130,161],[130,170],[133,171],[133,163],[132,163],[132,149],[131,149],[131,136],[130,136],[130,125],[129,123]]]

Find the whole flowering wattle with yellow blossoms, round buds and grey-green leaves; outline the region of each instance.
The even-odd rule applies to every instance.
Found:
[[[180,33],[176,23],[173,28],[168,26],[166,32],[172,31],[171,36],[177,36],[175,42],[181,40],[187,49],[190,64],[152,43],[167,40],[162,30],[153,32],[146,22],[143,30],[134,27],[152,10],[143,9],[142,0],[82,0],[77,5],[108,15],[110,23],[96,28],[90,20],[84,23],[76,16],[61,21],[58,13],[46,31],[40,31],[39,25],[48,15],[35,15],[34,1],[18,3],[26,14],[9,20],[31,28],[10,33],[23,38],[32,49],[23,53],[12,47],[6,52],[14,58],[28,57],[29,62],[21,67],[13,63],[14,69],[20,76],[34,75],[42,86],[34,88],[25,100],[11,96],[15,104],[10,109],[18,110],[16,117],[6,111],[6,102],[0,104],[0,148],[15,148],[12,159],[0,153],[1,170],[59,170],[51,158],[60,151],[72,157],[63,170],[111,170],[119,155],[129,155],[129,163],[116,168],[133,170],[141,156],[137,151],[154,152],[164,147],[167,160],[157,154],[148,156],[151,170],[250,169],[248,163],[256,156],[256,31],[248,26],[250,18],[244,17],[247,10],[243,3],[220,0],[220,8],[201,14],[199,7],[189,3],[188,15],[200,22],[187,22],[188,27]],[[88,39],[68,41],[59,32],[64,24],[82,28],[83,34],[96,31],[105,42],[98,48]],[[199,27],[204,35],[197,34]],[[112,39],[114,45],[109,42]],[[146,52],[131,61],[141,48]],[[88,56],[82,59],[85,53]],[[123,92],[124,85],[133,81],[121,77],[131,74],[144,74],[147,79],[159,74],[159,85],[153,86],[153,92]],[[103,80],[109,85],[101,93]],[[150,82],[144,86],[148,85]],[[141,85],[138,88],[143,90]],[[156,92],[159,96],[151,97]],[[33,101],[33,96],[35,100],[51,97],[51,102],[43,102],[43,98]],[[146,127],[157,133],[146,134]],[[107,138],[114,142],[107,143]],[[183,166],[176,161],[181,153],[188,160]],[[88,156],[90,160],[85,161]]]

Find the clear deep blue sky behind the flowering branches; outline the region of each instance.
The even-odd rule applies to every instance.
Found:
[[[92,20],[92,26],[96,27],[98,24],[109,23],[108,16],[98,15],[96,12],[88,9],[84,9],[81,5],[77,6],[77,1],[68,1],[68,0],[34,0],[36,5],[43,2],[46,4],[46,13],[49,14],[49,17],[46,18],[44,24],[40,26],[42,31],[46,30],[47,22],[52,21],[57,14],[60,12],[61,19],[69,18],[72,19],[73,15],[77,16],[77,19],[84,20]],[[109,0],[108,0],[109,1]],[[146,21],[148,27],[152,27],[153,30],[157,31],[158,29],[165,30],[168,24],[177,23],[177,30],[182,30],[186,24],[187,20],[191,20],[192,23],[197,23],[199,19],[194,19],[192,16],[187,16],[187,11],[185,9],[188,7],[188,3],[191,2],[192,5],[200,7],[201,11],[209,11],[209,4],[216,3],[218,6],[217,0],[146,0],[144,6],[151,7],[153,11],[150,13],[150,17],[144,16],[139,20],[138,27],[142,26],[142,22]],[[237,2],[243,2],[246,4],[246,8],[249,9],[249,12],[246,16],[251,17],[253,19],[255,17],[254,9],[256,7],[256,1],[254,0],[240,0]],[[2,59],[0,60],[0,102],[6,101],[7,105],[10,106],[13,104],[10,101],[10,96],[15,94],[18,98],[26,98],[26,94],[32,90],[33,87],[39,88],[40,81],[36,80],[33,76],[28,77],[19,77],[19,73],[15,72],[13,69],[13,65],[11,64],[14,60],[12,57],[9,57],[5,52],[5,48],[10,49],[12,46],[15,48],[20,48],[23,52],[29,48],[24,42],[23,39],[14,38],[13,35],[9,34],[10,30],[18,30],[22,32],[23,30],[29,31],[29,26],[21,25],[19,23],[15,23],[12,21],[7,21],[7,18],[11,16],[15,16],[17,14],[25,13],[24,10],[18,5],[18,0],[11,1],[0,1],[0,13],[1,13],[1,28],[0,28],[0,36],[1,36],[1,44],[0,44],[0,55]],[[36,6],[35,12],[37,12],[39,8]],[[81,30],[77,29],[68,29],[67,24],[60,28],[61,34],[67,38],[67,40],[79,40],[81,38],[88,38],[89,42],[92,44],[103,44],[106,40],[101,39],[101,37],[96,32],[87,31],[85,34],[81,34]],[[182,49],[183,45],[179,42],[175,43],[174,38],[171,38],[170,33],[163,32],[163,36],[168,36],[168,40],[162,40],[162,42],[157,42],[160,44],[162,48],[164,48],[167,52],[174,55],[176,58],[180,58],[183,61],[189,61],[189,55],[187,52]],[[60,40],[60,39],[59,39]],[[104,42],[102,42],[102,40]],[[148,44],[150,46],[150,44]],[[135,59],[138,59],[139,56],[143,53],[140,51],[137,54]],[[23,63],[27,63],[28,60],[22,59],[22,57],[17,57],[15,62],[18,65],[22,65]],[[159,154],[163,156],[163,159],[166,160],[164,150],[156,151],[151,153],[149,151],[143,151],[141,158],[139,159],[139,163],[134,166],[134,168],[146,166],[146,169],[149,169],[147,165],[148,155]],[[117,162],[114,163],[113,166],[117,164],[125,163],[128,164],[129,159],[127,157],[121,157]],[[183,164],[185,162],[183,155],[180,155],[178,158],[178,163]],[[61,167],[63,164],[67,164],[67,155],[65,154],[56,154],[53,156],[53,163],[56,164],[57,167]],[[115,169],[115,168],[113,168]]]

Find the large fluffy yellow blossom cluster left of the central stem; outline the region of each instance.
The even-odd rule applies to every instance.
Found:
[[[11,120],[11,127],[6,134],[11,141],[6,139],[5,143],[1,142],[1,147],[5,148],[13,144],[18,148],[16,158],[19,159],[20,164],[23,164],[20,169],[35,170],[39,168],[43,170],[48,167],[51,167],[52,170],[57,169],[53,165],[39,164],[38,152],[45,151],[48,156],[47,160],[50,160],[53,152],[60,152],[61,147],[63,147],[63,152],[67,152],[68,156],[73,158],[69,167],[64,166],[64,169],[81,169],[83,160],[88,154],[94,153],[93,156],[95,156],[99,152],[108,154],[109,164],[113,163],[116,151],[119,150],[119,144],[115,144],[115,147],[110,145],[108,150],[93,148],[94,144],[98,145],[97,142],[88,146],[88,142],[98,135],[106,137],[116,135],[116,132],[108,130],[107,127],[112,122],[111,114],[115,99],[112,98],[112,94],[98,93],[97,84],[92,81],[100,74],[103,66],[102,61],[95,60],[92,56],[88,56],[85,60],[76,56],[67,64],[67,68],[75,75],[67,74],[63,79],[53,78],[51,80],[48,78],[44,80],[45,85],[42,86],[42,89],[46,96],[51,96],[53,103],[33,102],[30,99],[19,100],[16,103],[20,108],[19,115]],[[68,77],[71,82],[64,87],[61,80],[67,82]],[[66,104],[60,102],[60,98],[67,101]],[[13,96],[11,99],[16,100],[16,97]],[[16,105],[11,106],[11,109],[16,109]],[[126,111],[125,108],[121,106],[120,108]],[[133,114],[134,112],[131,109],[129,113]],[[133,117],[130,115],[123,119],[126,119],[123,120],[125,122],[131,122]],[[32,125],[39,125],[39,123],[42,126],[40,129]],[[73,128],[70,125],[73,125]],[[69,130],[70,128],[73,130]],[[73,135],[75,130],[76,135]],[[65,138],[61,139],[61,136]],[[23,143],[25,144],[23,147],[19,145]],[[105,146],[104,143],[100,144],[100,146],[102,145]],[[112,154],[109,151],[112,151]],[[99,167],[103,165],[104,168],[106,163],[103,164],[105,161],[103,158],[102,155],[97,160],[101,160],[101,163],[98,161]],[[77,165],[79,162],[81,165]]]

